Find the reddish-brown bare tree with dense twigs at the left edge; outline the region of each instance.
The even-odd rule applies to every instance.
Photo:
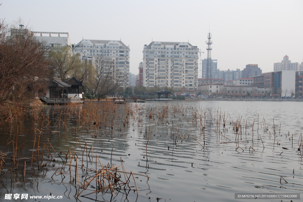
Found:
[[[33,97],[47,87],[52,77],[47,53],[30,30],[9,29],[0,20],[0,103]]]

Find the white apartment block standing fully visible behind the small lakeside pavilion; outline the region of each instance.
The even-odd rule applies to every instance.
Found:
[[[143,48],[143,86],[198,93],[197,46],[188,42],[152,41]]]

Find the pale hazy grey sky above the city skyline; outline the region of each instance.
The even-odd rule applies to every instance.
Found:
[[[68,32],[72,43],[83,39],[121,40],[130,46],[130,72],[138,74],[143,46],[151,41],[187,42],[220,70],[243,70],[258,64],[273,71],[285,55],[303,61],[303,1],[153,0],[153,1],[12,1],[0,0],[0,18],[22,18],[33,31]]]

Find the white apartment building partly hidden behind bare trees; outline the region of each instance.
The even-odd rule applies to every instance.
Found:
[[[119,72],[117,79],[125,79],[122,87],[129,86],[129,46],[122,41],[114,40],[81,40],[74,50],[74,54],[79,53],[82,60],[92,60],[99,57],[103,60],[113,61],[115,71]]]

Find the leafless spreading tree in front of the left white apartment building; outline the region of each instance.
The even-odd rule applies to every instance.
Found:
[[[98,91],[98,97],[125,86],[125,72],[118,71],[119,69],[115,68],[115,61],[99,56],[92,63],[94,68],[92,75],[89,77],[89,82]]]

